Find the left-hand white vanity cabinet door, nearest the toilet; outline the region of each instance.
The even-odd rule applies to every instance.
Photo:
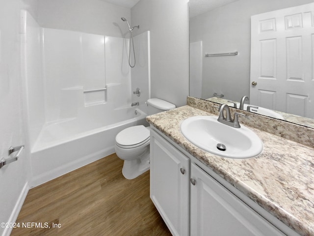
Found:
[[[189,159],[151,130],[150,197],[174,236],[189,233]]]

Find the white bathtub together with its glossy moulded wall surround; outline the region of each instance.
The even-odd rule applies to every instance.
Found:
[[[148,125],[149,32],[134,37],[139,63],[131,71],[129,39],[41,28],[23,15],[30,185],[36,186],[113,153],[122,129]],[[141,106],[131,107],[133,100]]]

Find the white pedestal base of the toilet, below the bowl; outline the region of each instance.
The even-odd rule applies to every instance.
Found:
[[[150,168],[150,153],[147,151],[140,158],[135,160],[125,160],[122,168],[122,175],[127,179],[133,179]]]

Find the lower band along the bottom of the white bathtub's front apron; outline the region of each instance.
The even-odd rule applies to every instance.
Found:
[[[48,181],[50,181],[56,177],[60,177],[64,174],[67,174],[71,171],[74,171],[80,167],[88,165],[88,164],[90,164],[94,161],[97,161],[97,160],[99,160],[105,156],[108,156],[114,152],[115,152],[114,147],[105,148],[101,151],[92,153],[88,156],[84,156],[80,159],[72,161],[66,165],[59,166],[59,167],[57,167],[57,168],[55,168],[49,172],[46,172],[42,175],[35,176],[35,177],[33,176],[32,180],[31,180],[30,188],[36,187],[36,186],[43,184],[45,182],[48,182]]]

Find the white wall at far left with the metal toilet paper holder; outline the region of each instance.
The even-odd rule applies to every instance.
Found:
[[[20,9],[35,11],[33,3],[36,2],[0,0],[0,159],[8,158],[11,145],[26,145],[18,161],[0,169],[0,222],[15,222],[28,191],[30,165],[23,114]],[[9,228],[0,228],[0,235],[10,232]]]

